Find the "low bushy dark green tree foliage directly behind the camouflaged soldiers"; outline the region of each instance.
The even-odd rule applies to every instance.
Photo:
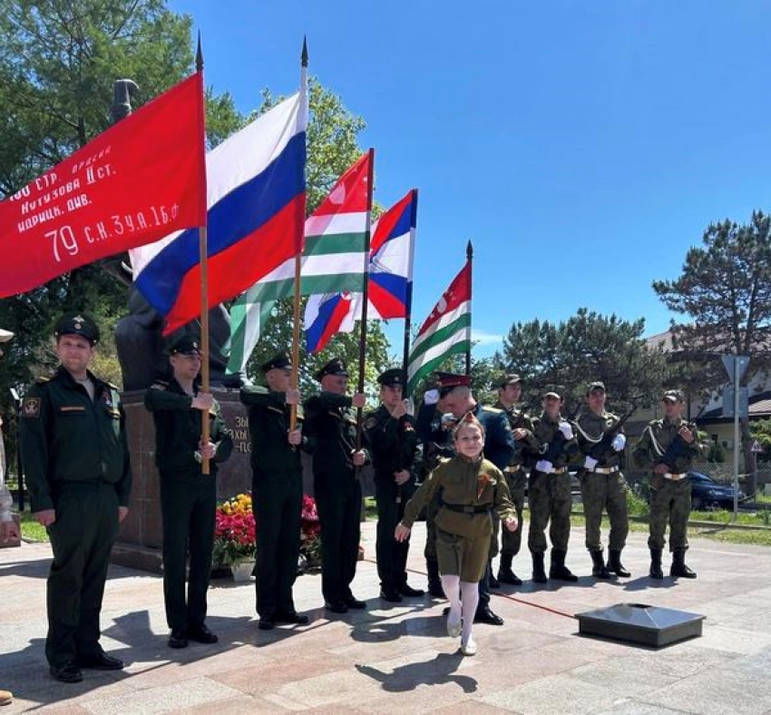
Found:
[[[649,404],[668,374],[660,348],[649,348],[645,320],[621,320],[581,308],[559,325],[532,320],[512,325],[495,356],[502,371],[522,376],[525,395],[560,386],[566,412],[580,404],[590,381],[605,383],[611,407],[625,409],[634,400]]]

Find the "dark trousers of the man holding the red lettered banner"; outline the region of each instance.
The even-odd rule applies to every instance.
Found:
[[[206,620],[216,507],[217,485],[213,475],[161,474],[163,600],[166,622],[172,631],[198,628]]]

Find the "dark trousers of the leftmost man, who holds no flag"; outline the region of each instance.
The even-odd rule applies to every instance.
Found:
[[[57,485],[56,521],[48,527],[54,562],[48,574],[45,657],[63,665],[102,651],[99,615],[112,544],[118,538],[118,496],[103,482]]]

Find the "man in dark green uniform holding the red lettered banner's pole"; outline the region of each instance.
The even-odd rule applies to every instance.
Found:
[[[170,648],[189,641],[216,643],[204,622],[217,508],[217,465],[233,451],[220,405],[197,383],[200,346],[190,335],[169,346],[171,377],[156,380],[144,395],[155,422],[155,464],[161,475],[163,597],[171,629]],[[208,415],[209,441],[201,441],[201,413]],[[201,469],[209,460],[210,474]],[[190,575],[185,599],[185,565]]]

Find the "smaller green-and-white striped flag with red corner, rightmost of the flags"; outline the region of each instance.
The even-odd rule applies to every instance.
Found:
[[[418,331],[407,364],[406,395],[447,357],[471,349],[471,261],[455,276]]]

